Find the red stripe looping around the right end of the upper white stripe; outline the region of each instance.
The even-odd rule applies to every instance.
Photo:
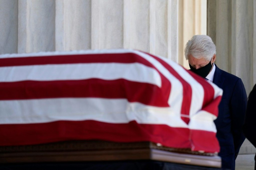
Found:
[[[149,61],[134,53],[3,58],[0,59],[0,67],[82,62],[139,62],[157,70],[157,68],[155,68]],[[91,79],[87,84],[85,80],[2,82],[0,83],[0,100],[41,99],[52,97],[127,97],[130,102],[137,101],[155,106],[169,106],[167,105],[167,101],[170,94],[171,85],[170,82],[160,73],[160,71],[158,71],[158,73],[160,74],[162,80],[161,89],[150,84],[135,82],[131,83],[127,80],[105,81]]]

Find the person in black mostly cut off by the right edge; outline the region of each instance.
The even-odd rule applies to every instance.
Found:
[[[247,109],[246,109],[246,117],[245,117],[245,125],[243,125],[243,132],[245,133],[246,138],[256,147],[256,84],[253,87],[253,90],[250,92]],[[255,167],[256,170],[256,155],[255,159]]]

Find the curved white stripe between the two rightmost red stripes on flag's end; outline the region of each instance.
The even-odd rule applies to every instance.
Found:
[[[204,91],[202,85],[198,83],[197,80],[195,80],[182,66],[171,60],[165,58],[161,59],[167,62],[191,86],[192,98],[189,115],[190,117],[193,116],[202,109],[204,98]]]

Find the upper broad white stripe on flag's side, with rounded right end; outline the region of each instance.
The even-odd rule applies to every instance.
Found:
[[[79,80],[99,78],[114,80],[124,78],[161,87],[159,73],[141,63],[79,63],[0,67],[0,82],[22,80]]]

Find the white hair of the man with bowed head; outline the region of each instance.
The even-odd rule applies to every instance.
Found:
[[[192,55],[194,58],[203,57],[210,61],[214,54],[216,54],[216,46],[207,35],[194,35],[185,46],[185,57]]]

